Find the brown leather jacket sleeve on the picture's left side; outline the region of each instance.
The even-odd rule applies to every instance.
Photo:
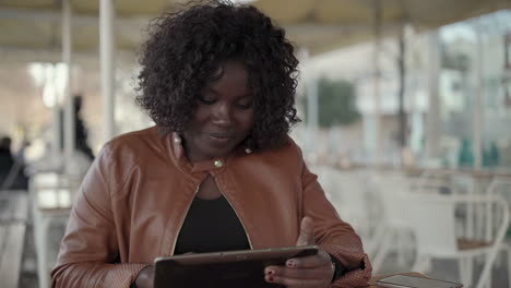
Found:
[[[108,149],[103,148],[78,192],[51,272],[52,287],[129,288],[147,265],[117,264],[119,243],[111,209],[117,183],[109,178],[111,166]]]

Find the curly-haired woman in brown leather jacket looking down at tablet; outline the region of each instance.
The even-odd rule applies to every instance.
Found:
[[[370,277],[287,136],[297,64],[284,31],[253,7],[213,1],[154,22],[139,104],[155,128],[107,143],[85,177],[52,272],[56,287],[152,287],[154,259],[318,244],[264,269],[287,287]],[[206,240],[205,240],[206,239]]]

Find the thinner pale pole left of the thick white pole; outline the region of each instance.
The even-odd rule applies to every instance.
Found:
[[[74,105],[71,95],[71,75],[72,75],[72,47],[71,47],[71,0],[62,1],[62,62],[66,63],[66,88],[64,88],[64,158],[66,165],[69,165],[74,153]]]

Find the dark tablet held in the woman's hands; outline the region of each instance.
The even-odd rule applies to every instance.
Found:
[[[154,287],[282,287],[264,280],[266,266],[317,253],[318,247],[309,245],[157,257]]]

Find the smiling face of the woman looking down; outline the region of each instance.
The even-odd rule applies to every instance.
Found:
[[[253,127],[253,95],[245,65],[226,61],[219,73],[201,92],[195,113],[183,132],[190,161],[227,156]]]

